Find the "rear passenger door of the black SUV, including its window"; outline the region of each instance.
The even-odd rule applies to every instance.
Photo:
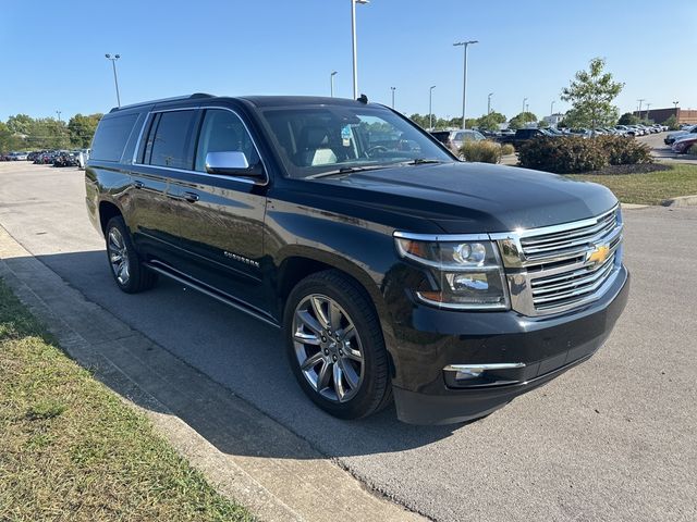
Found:
[[[132,233],[139,250],[176,264],[179,220],[171,194],[171,174],[194,163],[196,109],[154,112],[132,166]]]

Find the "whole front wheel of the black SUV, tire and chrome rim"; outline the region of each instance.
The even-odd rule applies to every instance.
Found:
[[[359,419],[392,401],[380,322],[365,289],[351,277],[329,270],[301,281],[285,302],[283,336],[297,382],[322,410]],[[309,366],[302,368],[303,362]]]

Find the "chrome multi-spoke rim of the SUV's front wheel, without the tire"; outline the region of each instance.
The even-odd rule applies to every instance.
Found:
[[[346,311],[321,294],[305,297],[293,314],[293,345],[301,371],[313,388],[334,402],[360,389],[364,352]]]

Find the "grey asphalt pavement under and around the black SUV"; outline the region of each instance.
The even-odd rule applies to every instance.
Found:
[[[120,293],[83,173],[0,164],[0,225],[88,299],[337,459],[441,521],[697,520],[697,209],[625,212],[627,309],[608,344],[468,425],[359,422],[311,406],[274,330],[167,281]],[[272,384],[271,384],[272,383]]]

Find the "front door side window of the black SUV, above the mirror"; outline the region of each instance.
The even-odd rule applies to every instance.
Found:
[[[208,152],[233,151],[244,152],[249,165],[259,162],[259,154],[242,120],[235,113],[222,109],[207,110],[198,137],[195,169],[206,172]]]

